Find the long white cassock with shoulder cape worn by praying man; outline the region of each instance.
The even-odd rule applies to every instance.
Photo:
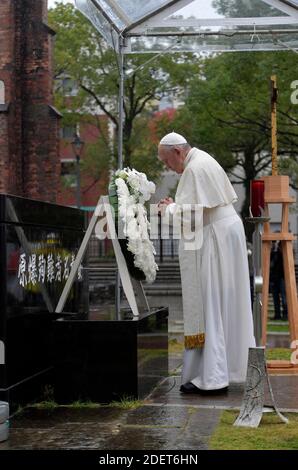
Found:
[[[246,239],[233,207],[237,195],[218,162],[192,148],[184,165],[168,211],[183,204],[203,208],[203,242],[200,249],[186,250],[183,239],[179,246],[186,340],[182,384],[214,390],[245,381],[248,349],[255,346]],[[202,331],[203,345],[192,346],[188,339]]]

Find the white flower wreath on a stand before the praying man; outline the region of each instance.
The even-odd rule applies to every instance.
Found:
[[[125,168],[113,177],[118,196],[118,214],[127,237],[127,249],[134,255],[134,265],[143,271],[146,281],[153,282],[158,266],[155,248],[149,237],[150,223],[144,206],[155,192],[155,184],[145,173]]]

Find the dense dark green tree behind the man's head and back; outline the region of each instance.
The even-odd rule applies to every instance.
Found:
[[[185,107],[177,114],[177,125],[189,141],[214,155],[233,183],[244,185],[243,217],[248,214],[250,180],[271,171],[272,73],[277,74],[279,88],[280,160],[297,159],[298,106],[291,102],[297,66],[298,56],[292,52],[231,53],[208,58],[200,79],[190,86]]]

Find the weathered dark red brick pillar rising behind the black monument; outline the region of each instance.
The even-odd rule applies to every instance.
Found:
[[[0,192],[49,202],[60,192],[54,34],[47,0],[0,1]]]

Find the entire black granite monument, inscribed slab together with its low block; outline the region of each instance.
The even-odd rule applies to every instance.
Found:
[[[167,309],[89,313],[81,266],[55,313],[85,229],[83,211],[0,194],[0,400],[143,398],[167,375]]]

